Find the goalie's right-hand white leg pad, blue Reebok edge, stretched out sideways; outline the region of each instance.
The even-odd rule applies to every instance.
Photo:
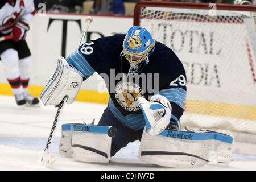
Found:
[[[145,163],[175,168],[227,166],[232,159],[232,144],[229,135],[209,130],[164,130],[151,136],[144,129],[138,158]]]

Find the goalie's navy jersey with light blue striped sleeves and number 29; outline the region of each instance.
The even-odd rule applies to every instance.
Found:
[[[146,126],[138,98],[165,96],[172,106],[171,121],[179,121],[186,98],[186,75],[175,53],[160,42],[148,55],[149,62],[130,69],[129,61],[121,56],[125,35],[114,35],[84,43],[67,57],[69,65],[89,78],[97,72],[106,83],[109,108],[113,115],[132,129]],[[129,74],[127,74],[129,73]]]

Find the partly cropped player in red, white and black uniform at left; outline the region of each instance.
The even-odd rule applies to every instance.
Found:
[[[39,103],[28,93],[31,53],[25,40],[34,14],[33,0],[0,2],[0,37],[13,35],[13,39],[0,42],[0,59],[18,105]]]

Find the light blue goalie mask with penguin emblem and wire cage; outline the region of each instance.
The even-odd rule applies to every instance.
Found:
[[[125,56],[131,68],[134,68],[144,60],[149,62],[148,55],[154,46],[155,40],[145,28],[131,27],[123,40],[121,56]]]

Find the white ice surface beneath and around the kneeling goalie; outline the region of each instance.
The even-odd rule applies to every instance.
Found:
[[[95,118],[96,123],[101,117],[106,105],[86,102],[74,102],[65,105],[56,138],[51,148],[51,154],[57,156],[51,167],[40,163],[46,141],[51,130],[57,109],[53,106],[39,108],[26,107],[22,109],[15,104],[13,96],[0,96],[0,170],[21,171],[122,171],[122,170],[256,170],[256,156],[233,154],[229,167],[204,166],[197,168],[177,169],[152,166],[137,158],[139,141],[122,148],[110,163],[84,163],[65,158],[58,153],[60,127],[64,123],[90,123]]]

